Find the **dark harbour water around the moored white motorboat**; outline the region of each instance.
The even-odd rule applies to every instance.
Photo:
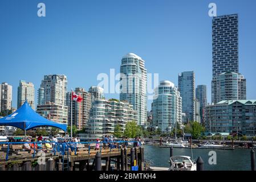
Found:
[[[216,151],[217,164],[210,165],[209,151]],[[249,149],[235,150],[210,150],[210,149],[192,149],[193,158],[197,160],[201,156],[204,160],[204,169],[209,171],[246,171],[251,170],[251,158]],[[192,156],[188,148],[173,148],[173,155]],[[155,167],[169,167],[170,148],[160,148],[159,146],[144,146],[144,158],[151,160]]]

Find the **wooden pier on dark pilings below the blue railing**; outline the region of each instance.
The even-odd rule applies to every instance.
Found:
[[[144,169],[143,147],[66,151],[64,155],[14,154],[8,160],[3,154],[0,157],[0,171],[130,171],[131,166]]]

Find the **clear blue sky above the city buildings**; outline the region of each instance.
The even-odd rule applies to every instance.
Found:
[[[37,16],[39,2],[46,5],[46,17]],[[13,85],[17,107],[19,80],[33,82],[37,90],[44,75],[64,74],[69,89],[88,90],[99,83],[99,73],[118,73],[122,56],[133,52],[145,60],[148,73],[175,85],[178,73],[193,70],[196,85],[208,86],[210,102],[210,2],[217,4],[217,15],[239,14],[239,72],[247,79],[247,98],[256,99],[253,0],[1,0],[0,82]]]

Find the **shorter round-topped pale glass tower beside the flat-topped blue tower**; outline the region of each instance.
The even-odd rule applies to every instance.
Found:
[[[180,92],[170,81],[161,81],[153,97],[153,126],[164,133],[182,123]]]

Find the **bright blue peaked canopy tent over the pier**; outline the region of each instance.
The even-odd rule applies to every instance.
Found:
[[[56,123],[40,116],[30,107],[27,101],[13,114],[1,118],[0,125],[18,127],[19,129],[25,130],[25,135],[26,130],[40,126],[51,126],[64,131],[67,130],[67,124]]]

